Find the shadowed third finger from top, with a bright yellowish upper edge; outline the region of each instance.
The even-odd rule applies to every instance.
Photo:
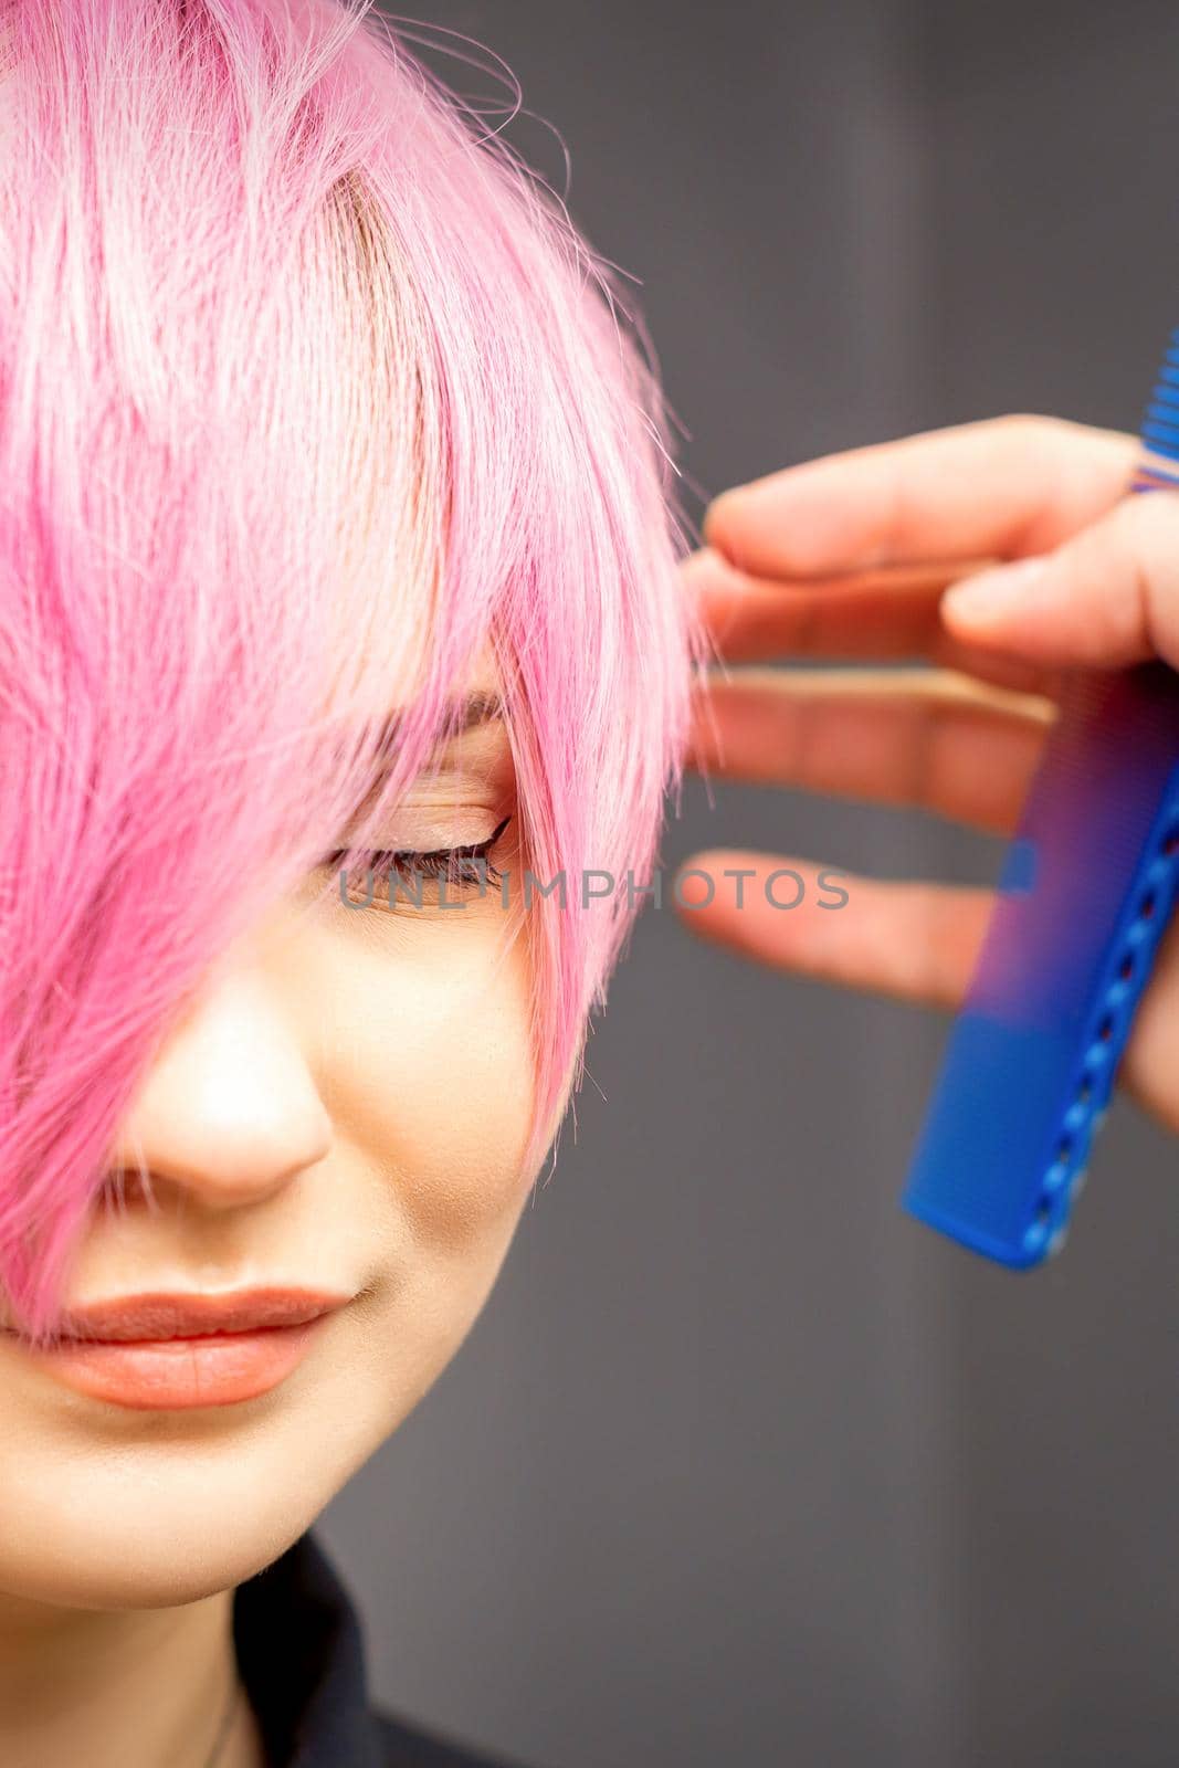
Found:
[[[1055,707],[940,670],[769,670],[696,691],[688,764],[1009,834]]]

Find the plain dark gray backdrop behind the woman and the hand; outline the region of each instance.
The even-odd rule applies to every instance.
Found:
[[[430,18],[560,129],[702,493],[1004,410],[1137,428],[1179,324],[1170,4]],[[997,863],[693,783],[665,863],[723,842]],[[536,1768],[1179,1759],[1175,1146],[1121,1101],[1064,1257],[974,1261],[896,1208],[944,1031],[642,918],[576,1146],[322,1524],[387,1704]]]

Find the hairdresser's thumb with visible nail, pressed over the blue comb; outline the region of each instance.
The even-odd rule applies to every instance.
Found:
[[[1055,552],[955,583],[940,615],[956,638],[1045,665],[1179,668],[1179,497],[1126,497]]]

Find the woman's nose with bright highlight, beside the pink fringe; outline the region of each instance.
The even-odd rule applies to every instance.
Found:
[[[322,1160],[332,1123],[256,962],[210,978],[157,1052],[111,1160],[209,1209],[262,1202]]]

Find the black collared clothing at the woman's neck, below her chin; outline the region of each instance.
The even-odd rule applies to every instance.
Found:
[[[369,1704],[361,1619],[311,1535],[239,1584],[233,1642],[269,1768],[518,1768]]]

